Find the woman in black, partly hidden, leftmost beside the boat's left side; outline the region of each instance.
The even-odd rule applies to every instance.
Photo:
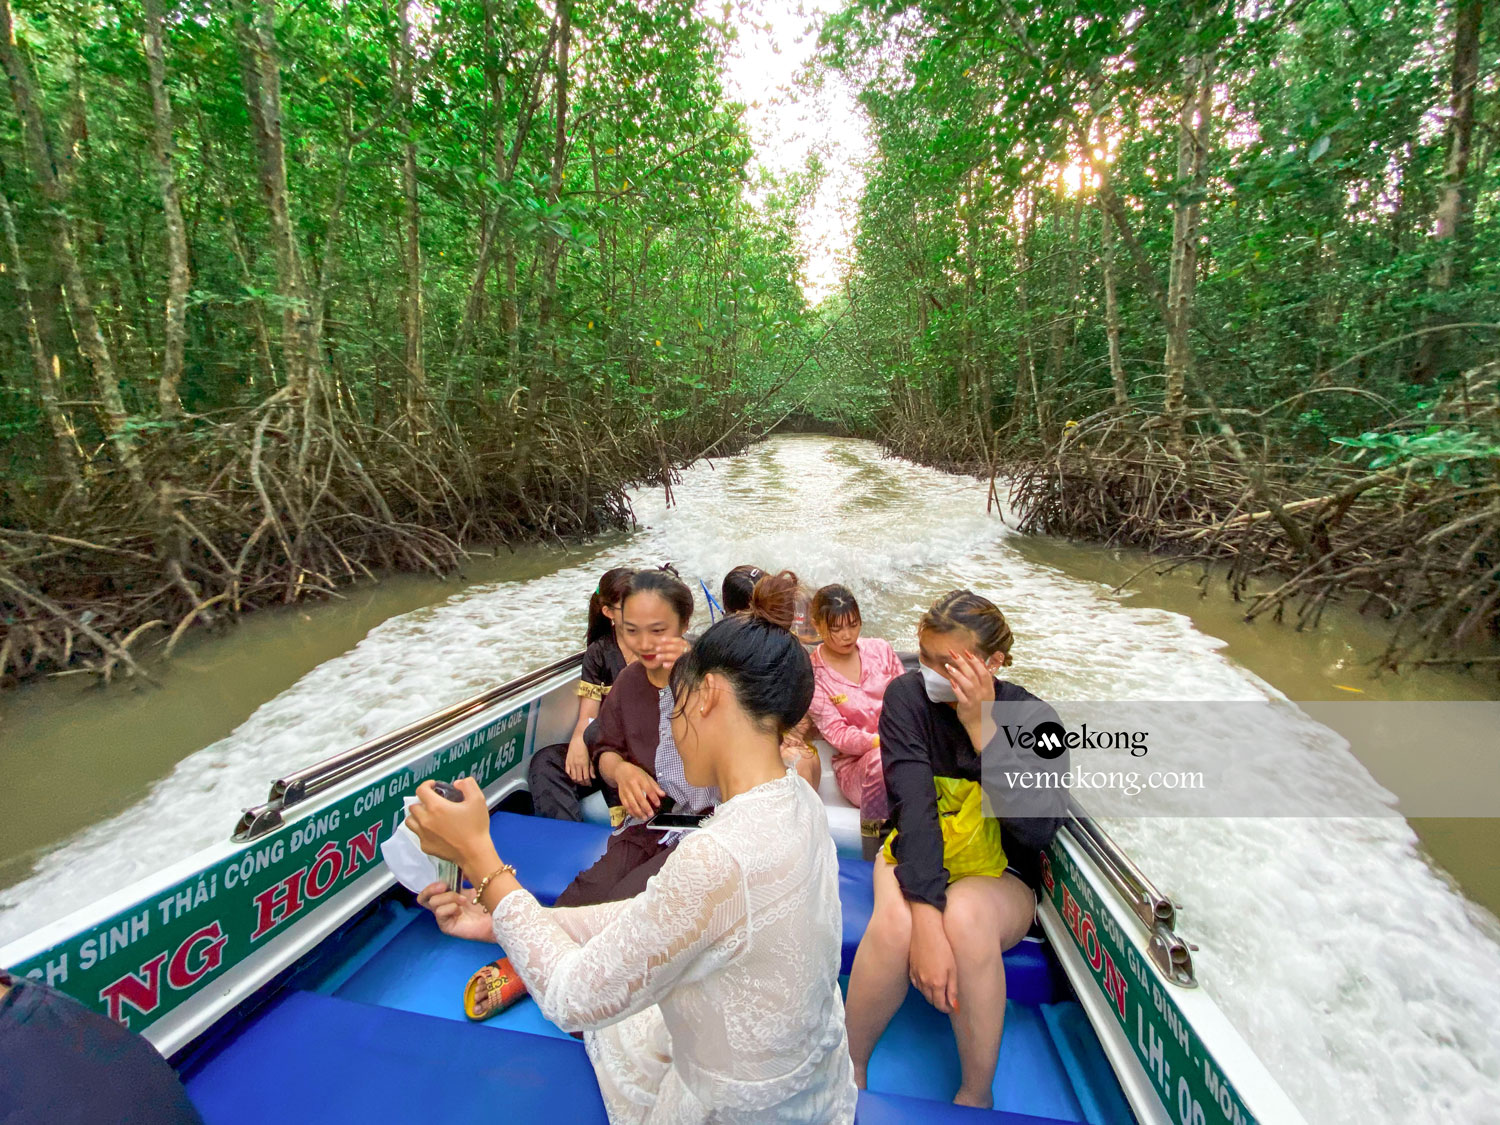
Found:
[[[573,736],[567,742],[542,747],[526,766],[531,807],[537,816],[582,820],[584,798],[602,788],[590,753],[590,724],[598,717],[598,706],[609,694],[615,676],[636,658],[630,646],[620,640],[620,603],[634,573],[630,567],[606,570],[588,600],[588,648],[584,651],[578,682],[578,723]]]

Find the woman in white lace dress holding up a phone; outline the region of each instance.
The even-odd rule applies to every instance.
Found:
[[[722,802],[646,890],[548,909],[465,800],[418,789],[411,826],[477,892],[423,891],[446,933],[494,936],[542,1011],[582,1030],[612,1122],[852,1122],[838,994],[838,867],[822,802],[782,764],[813,674],[786,630],[796,579],[762,579],[748,614],[678,660],[672,734],[687,780]]]

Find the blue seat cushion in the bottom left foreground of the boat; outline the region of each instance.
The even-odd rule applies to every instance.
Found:
[[[184,1076],[207,1125],[280,1120],[600,1122],[582,1042],[294,992]]]

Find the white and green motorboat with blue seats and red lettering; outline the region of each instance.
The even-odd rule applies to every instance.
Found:
[[[474,776],[498,852],[550,902],[608,838],[526,814],[526,760],[578,716],[582,654],[274,780],[226,838],[0,948],[0,964],[140,1032],[208,1125],[476,1114],[604,1120],[584,1044],[525,999],[470,1023],[494,945],[444,936],[381,861],[404,798]],[[858,810],[824,754],[843,968],[873,906]],[[230,830],[230,825],[225,825]],[[142,826],[142,831],[148,828]],[[1162,896],[1078,806],[1042,856],[1032,934],[1005,956],[994,1108],[950,1104],[946,1017],[912,990],[880,1040],[858,1120],[974,1125],[1298,1125],[1302,1116],[1198,987]]]

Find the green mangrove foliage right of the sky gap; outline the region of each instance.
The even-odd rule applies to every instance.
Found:
[[[1410,387],[1432,399],[1494,354],[1496,328],[1413,330],[1500,321],[1497,30],[1480,40],[1464,218],[1440,243],[1443,0],[849,3],[822,64],[860,92],[874,158],[830,368],[849,398],[884,400],[876,424],[898,448],[938,460],[984,462],[1110,406],[1107,170],[1131,410],[1162,405],[1174,210],[1198,204],[1188,405],[1254,412],[1287,458],[1386,426],[1413,410]],[[1204,57],[1197,190],[1179,182],[1179,116]],[[1450,285],[1434,280],[1443,255]]]

